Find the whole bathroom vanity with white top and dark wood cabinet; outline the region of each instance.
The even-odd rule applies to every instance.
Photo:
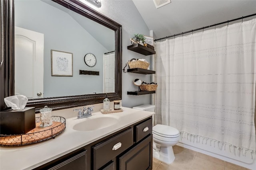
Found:
[[[151,170],[154,113],[122,109],[66,119],[66,130],[55,139],[0,147],[0,169]]]

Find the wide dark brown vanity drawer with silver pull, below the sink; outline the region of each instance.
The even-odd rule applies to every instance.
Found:
[[[93,150],[93,162],[94,170],[97,170],[117,155],[128,149],[133,144],[133,129],[130,128],[119,135],[108,139],[94,147]]]

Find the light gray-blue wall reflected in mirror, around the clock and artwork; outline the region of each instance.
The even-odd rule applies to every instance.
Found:
[[[44,97],[102,93],[108,50],[68,14],[41,1],[15,1],[15,25],[44,34]],[[72,77],[51,76],[51,49],[73,53]],[[87,53],[96,56],[96,66],[84,63]],[[100,76],[79,75],[79,70],[99,71]]]

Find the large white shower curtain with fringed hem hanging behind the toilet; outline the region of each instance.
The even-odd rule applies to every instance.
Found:
[[[157,124],[255,152],[256,19],[155,43]]]

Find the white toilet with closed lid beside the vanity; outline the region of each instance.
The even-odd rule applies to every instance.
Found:
[[[150,104],[144,104],[132,108],[155,112],[155,106]],[[175,159],[172,146],[176,145],[180,140],[180,132],[174,127],[167,125],[155,125],[152,133],[153,157],[167,164],[172,163]]]

